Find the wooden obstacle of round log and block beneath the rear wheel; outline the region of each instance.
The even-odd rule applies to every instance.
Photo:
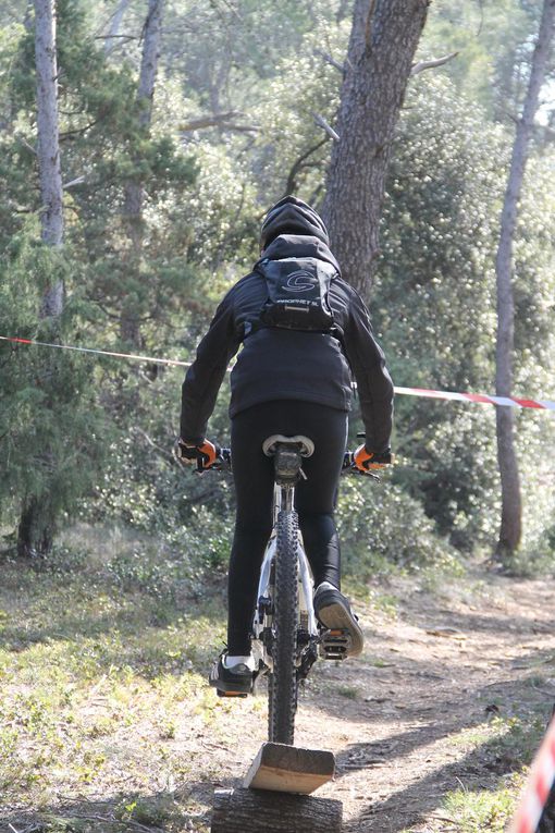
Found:
[[[334,772],[332,752],[262,744],[243,787],[215,791],[211,831],[341,833],[342,803],[309,796]]]

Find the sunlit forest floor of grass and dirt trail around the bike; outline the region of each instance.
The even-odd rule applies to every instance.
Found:
[[[205,683],[221,588],[169,603],[76,567],[1,565],[0,831],[206,833],[267,720],[263,691]],[[300,701],[297,745],[337,759],[317,795],[346,833],[501,833],[555,702],[553,583],[399,578],[357,611],[365,653],[318,662]]]

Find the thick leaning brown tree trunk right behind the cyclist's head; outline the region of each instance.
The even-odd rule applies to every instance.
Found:
[[[323,216],[343,275],[363,294],[394,130],[429,0],[356,0]]]

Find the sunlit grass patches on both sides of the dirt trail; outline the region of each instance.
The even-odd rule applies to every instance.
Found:
[[[218,575],[203,590],[178,554],[101,528],[74,532],[46,563],[0,568],[4,816],[37,833],[207,833],[211,785],[234,772],[237,742],[237,703],[205,679],[224,638]],[[395,617],[396,596],[367,588],[366,600]],[[445,797],[445,830],[503,830],[544,730],[525,700],[545,681],[534,669],[529,682],[516,713],[453,734],[484,777]],[[321,675],[311,684],[328,690]],[[330,694],[356,701],[363,690],[344,681]],[[262,697],[240,701],[262,731],[264,710]]]

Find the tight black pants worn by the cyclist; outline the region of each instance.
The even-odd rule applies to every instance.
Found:
[[[260,565],[272,530],[273,461],[262,442],[273,433],[309,437],[314,453],[303,469],[307,476],[295,491],[305,549],[314,585],[340,587],[340,542],[333,517],[343,455],[347,414],[312,402],[275,401],[255,405],[232,420],[233,478],[237,500],[230,560],[227,650],[250,652],[249,630]]]

